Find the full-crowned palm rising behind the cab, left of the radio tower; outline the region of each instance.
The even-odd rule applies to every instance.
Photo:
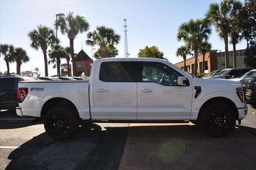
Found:
[[[89,46],[100,46],[100,53],[102,58],[106,58],[108,48],[114,49],[120,41],[120,35],[116,34],[113,28],[106,26],[97,26],[93,32],[88,32],[86,44]]]

